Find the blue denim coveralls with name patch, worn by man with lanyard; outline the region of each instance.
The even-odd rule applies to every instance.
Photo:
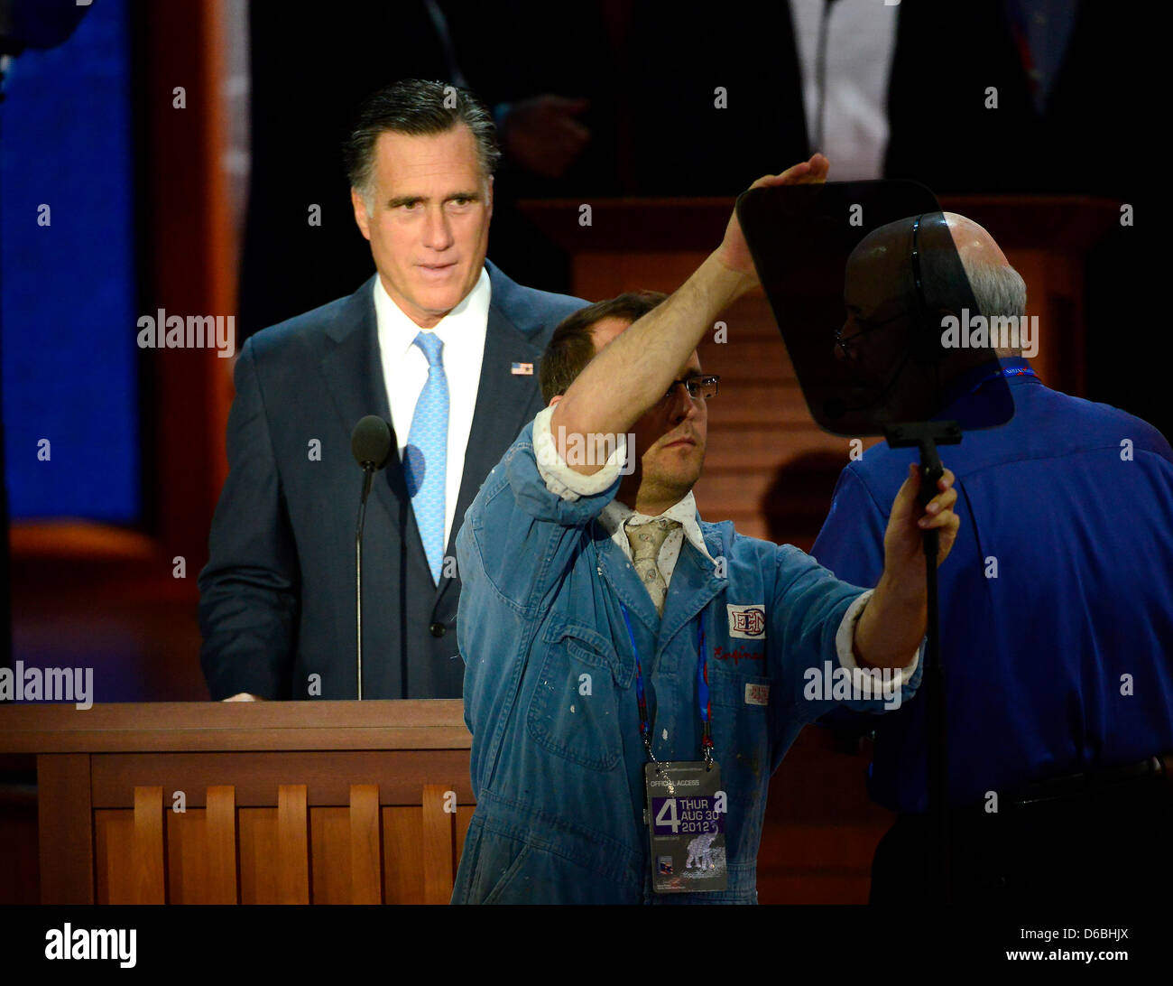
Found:
[[[863,590],[798,548],[740,536],[728,521],[701,524],[710,555],[725,559],[725,578],[685,542],[662,619],[624,553],[595,522],[618,480],[577,500],[551,493],[533,431],[531,423],[489,474],[456,541],[457,642],[477,804],[453,903],[757,903],[769,777],[802,725],[836,704],[807,700],[804,671],[828,661],[840,667],[836,634]],[[728,798],[726,892],[651,890],[647,756],[621,601],[639,650],[659,761],[701,758],[704,614],[714,759]],[[731,636],[731,605],[762,606],[764,633]],[[843,634],[840,646],[846,641],[849,654],[849,626]],[[920,677],[917,661],[901,684],[902,700]],[[748,702],[762,693],[747,693],[747,684],[768,684],[768,703]],[[846,704],[883,709],[882,700]]]

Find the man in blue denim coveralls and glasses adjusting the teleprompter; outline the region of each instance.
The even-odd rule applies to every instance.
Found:
[[[815,155],[755,185],[827,167]],[[717,384],[696,347],[755,284],[734,215],[646,313],[637,296],[624,315],[626,296],[564,322],[545,359],[572,383],[543,394],[468,511],[457,627],[477,804],[454,903],[757,903],[767,785],[799,730],[836,701],[880,711],[915,691],[921,535],[940,531],[940,562],[957,532],[950,473],[922,511],[909,470],[868,592],[697,515]],[[679,820],[693,815],[704,828]],[[679,831],[699,832],[686,853],[653,849]]]

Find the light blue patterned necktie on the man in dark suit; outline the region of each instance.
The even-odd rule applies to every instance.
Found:
[[[415,401],[412,431],[404,450],[404,474],[432,578],[440,585],[448,464],[448,378],[440,359],[443,342],[434,332],[420,332],[414,345],[428,358],[428,381]]]

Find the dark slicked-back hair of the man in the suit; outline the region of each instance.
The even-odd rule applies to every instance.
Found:
[[[351,188],[369,203],[374,191],[374,147],[380,134],[428,136],[463,123],[473,131],[488,181],[501,160],[497,130],[488,108],[468,89],[422,79],[401,79],[367,96],[358,108],[343,160]]]

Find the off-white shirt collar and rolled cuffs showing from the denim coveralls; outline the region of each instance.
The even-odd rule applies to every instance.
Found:
[[[558,454],[557,444],[550,432],[551,417],[554,417],[554,408],[543,407],[534,419],[534,455],[537,459],[538,474],[545,481],[545,488],[563,500],[577,500],[579,497],[597,495],[604,489],[609,489],[611,484],[618,479],[619,468],[623,466],[628,454],[626,435],[619,435],[615,451],[603,465],[603,468],[594,475],[583,475],[570,468]],[[717,563],[716,559],[713,559],[705,547],[705,539],[700,533],[700,525],[697,522],[697,502],[691,489],[679,502],[669,507],[660,516],[669,516],[672,520],[680,521],[680,529],[673,531],[664,539],[657,559],[665,586],[671,585],[672,573],[676,570],[676,563],[680,556],[680,548],[685,539],[705,558],[714,565]],[[629,519],[633,519],[637,524],[651,520],[651,518],[636,513],[631,507],[621,504],[618,500],[611,500],[598,515],[599,525],[610,535],[611,540],[619,546],[619,549],[626,555],[628,561],[632,561],[631,543],[628,541],[628,535],[624,531],[624,525]],[[868,600],[872,597],[872,589],[868,589],[852,602],[843,614],[839,630],[835,634],[839,663],[849,671],[859,667],[852,644],[855,640],[855,624],[859,622],[860,616],[863,615],[863,607],[867,606]],[[911,676],[916,670],[920,659],[921,650],[917,648],[911,662],[894,673],[894,688],[903,687],[906,677]]]

